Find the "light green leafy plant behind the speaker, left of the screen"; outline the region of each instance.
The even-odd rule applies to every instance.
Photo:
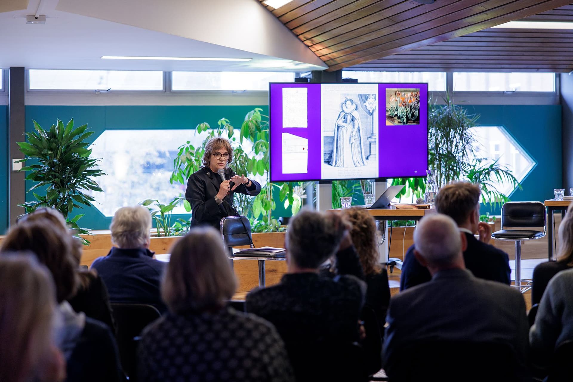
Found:
[[[285,208],[290,207],[293,214],[299,211],[302,204],[300,195],[296,192],[296,187],[301,186],[299,182],[270,183],[269,120],[268,116],[261,112],[262,109],[255,108],[247,113],[238,137],[236,129],[225,118],[220,119],[215,128],[211,128],[206,122],[198,124],[195,134],[206,132],[205,140],[201,147],[194,147],[190,141],[179,147],[178,155],[173,161],[174,170],[170,178],[171,183],[186,184],[189,176],[202,166],[207,141],[213,137],[226,136],[233,145],[231,166],[237,174],[266,175],[266,183],[262,185],[261,193],[255,198],[235,194],[237,210],[244,215],[253,216],[253,220],[258,220],[258,223],[253,221],[253,231],[268,231],[278,227],[276,220],[270,217],[270,212],[276,208],[273,190],[278,190],[280,202],[285,203]],[[184,205],[188,212],[191,211],[191,206],[187,201]]]

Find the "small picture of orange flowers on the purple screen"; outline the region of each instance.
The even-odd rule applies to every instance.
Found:
[[[386,125],[420,124],[420,89],[386,89]]]

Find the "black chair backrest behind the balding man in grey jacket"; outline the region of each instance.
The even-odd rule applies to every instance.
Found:
[[[501,382],[528,377],[512,346],[499,342],[418,341],[395,349],[384,370],[391,381],[405,382]]]

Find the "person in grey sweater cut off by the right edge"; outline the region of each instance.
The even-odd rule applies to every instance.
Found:
[[[549,284],[529,330],[533,363],[540,368],[551,365],[555,349],[573,340],[573,269],[560,271]],[[571,376],[569,376],[571,377]]]

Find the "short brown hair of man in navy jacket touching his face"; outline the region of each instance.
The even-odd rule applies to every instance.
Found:
[[[476,210],[480,196],[481,190],[476,184],[449,183],[442,187],[435,197],[435,208],[440,214],[450,216],[460,226]]]

